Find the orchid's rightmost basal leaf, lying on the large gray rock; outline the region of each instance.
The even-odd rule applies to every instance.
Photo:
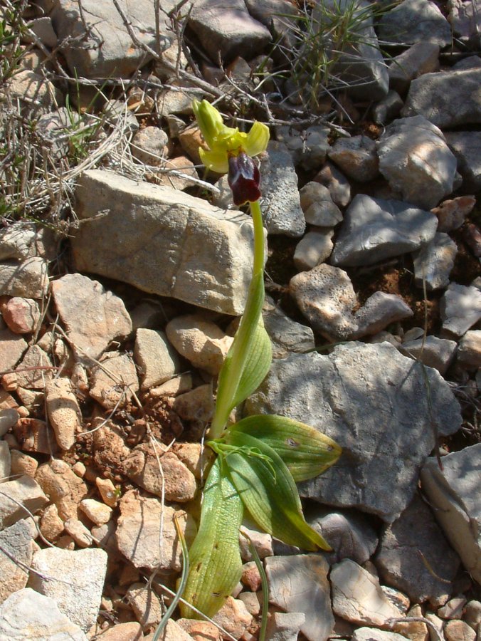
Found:
[[[275,449],[296,483],[322,474],[342,452],[335,441],[314,427],[284,416],[249,416],[228,430],[250,434]]]

